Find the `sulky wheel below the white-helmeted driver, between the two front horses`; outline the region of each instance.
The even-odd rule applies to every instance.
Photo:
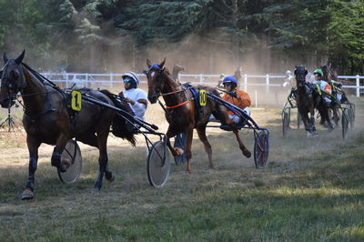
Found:
[[[166,142],[157,141],[147,157],[147,177],[152,187],[163,187],[169,176],[170,162]]]

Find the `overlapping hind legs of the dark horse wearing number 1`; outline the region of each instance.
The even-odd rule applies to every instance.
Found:
[[[107,170],[107,136],[108,136],[108,126],[107,129],[104,131],[97,132],[97,144],[98,144],[98,176],[95,183],[95,190],[100,190],[102,187],[102,180],[104,178],[104,173],[106,177],[109,178],[109,181],[113,180],[112,173]]]

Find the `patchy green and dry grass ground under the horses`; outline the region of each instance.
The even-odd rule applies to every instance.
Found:
[[[346,141],[340,128],[329,133],[322,127],[319,138],[294,129],[285,140],[281,110],[253,110],[257,123],[270,131],[267,168],[256,169],[252,158],[243,157],[231,133],[209,130],[216,170],[207,171],[196,139],[192,175],[172,165],[160,189],[147,182],[141,137],[136,148],[109,138],[116,180],[104,181],[99,193],[91,192],[96,149],[81,146],[83,174],[66,186],[50,165],[52,147],[42,146],[31,201],[19,199],[27,176],[25,136],[3,132],[0,240],[363,241],[364,101],[356,104],[356,126]],[[159,106],[150,106],[147,117],[166,130]],[[252,133],[241,133],[252,150]]]

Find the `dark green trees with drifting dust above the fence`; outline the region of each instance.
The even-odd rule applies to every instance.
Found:
[[[327,62],[364,73],[363,0],[0,0],[0,9],[1,49],[26,49],[43,69],[140,71],[146,57],[173,54],[201,73],[253,59],[266,73]]]

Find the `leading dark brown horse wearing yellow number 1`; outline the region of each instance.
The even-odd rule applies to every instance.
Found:
[[[42,143],[55,146],[51,164],[59,168],[61,172],[66,172],[70,163],[61,160],[61,155],[68,140],[74,137],[99,150],[99,172],[94,190],[100,190],[104,175],[110,182],[115,178],[107,166],[106,142],[116,112],[84,99],[82,99],[82,109],[79,112],[70,110],[69,98],[67,98],[69,95],[50,81],[45,82],[45,78],[23,63],[24,56],[25,51],[15,59],[8,59],[4,54],[5,66],[0,71],[1,106],[6,108],[12,106],[19,91],[25,106],[23,125],[29,151],[29,173],[21,199],[34,197],[38,147]],[[91,89],[79,91],[106,104],[114,105],[110,97],[102,92]],[[133,136],[127,137],[129,141],[133,138]]]

